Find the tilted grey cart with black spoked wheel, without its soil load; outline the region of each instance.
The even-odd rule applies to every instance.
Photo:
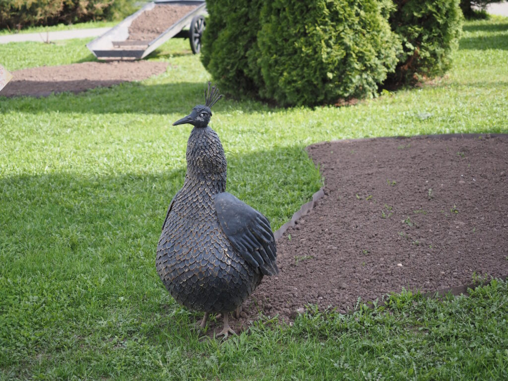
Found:
[[[129,27],[132,22],[145,11],[151,11],[156,5],[195,5],[196,8],[173,25],[169,26],[162,34],[151,41],[129,39]],[[201,49],[201,35],[205,27],[206,3],[204,0],[156,0],[148,3],[136,13],[123,19],[118,25],[108,30],[104,35],[89,42],[86,47],[98,59],[142,59],[164,44],[170,38],[188,38],[193,53],[199,53]],[[188,28],[188,30],[186,30]]]

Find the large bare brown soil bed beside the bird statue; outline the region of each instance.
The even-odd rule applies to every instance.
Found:
[[[338,141],[308,152],[325,196],[278,241],[280,272],[243,304],[237,330],[260,312],[289,322],[308,304],[347,312],[358,298],[508,274],[506,135]]]

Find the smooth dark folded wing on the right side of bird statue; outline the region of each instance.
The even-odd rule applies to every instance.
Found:
[[[279,272],[277,249],[268,219],[230,193],[215,195],[220,227],[242,258],[263,275]]]

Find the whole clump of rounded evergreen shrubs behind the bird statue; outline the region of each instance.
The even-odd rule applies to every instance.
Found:
[[[287,106],[441,75],[462,25],[459,0],[210,0],[207,9],[201,59],[221,90]]]

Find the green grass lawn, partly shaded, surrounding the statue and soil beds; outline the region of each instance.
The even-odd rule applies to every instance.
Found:
[[[88,40],[0,45],[8,70],[93,59]],[[187,41],[149,59],[165,74],[48,98],[0,97],[0,379],[508,379],[508,283],[390,310],[270,319],[200,339],[155,272],[166,208],[185,173],[188,126],[209,79]],[[467,22],[449,74],[352,107],[224,99],[212,128],[228,190],[277,229],[322,179],[323,140],[507,133],[508,19]],[[1,92],[0,92],[1,94]]]

